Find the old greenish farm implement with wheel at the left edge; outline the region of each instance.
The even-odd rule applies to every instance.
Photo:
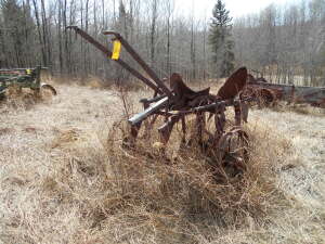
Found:
[[[16,86],[18,89],[29,88],[36,93],[42,89],[49,90],[56,95],[56,90],[49,84],[41,82],[41,70],[47,69],[40,66],[36,68],[0,69],[0,95],[4,95],[9,87]]]

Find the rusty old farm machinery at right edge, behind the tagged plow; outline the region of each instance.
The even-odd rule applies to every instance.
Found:
[[[264,78],[256,79],[252,75],[248,75],[247,86],[243,93],[266,106],[276,101],[286,101],[288,104],[306,103],[325,108],[325,87],[271,84]]]

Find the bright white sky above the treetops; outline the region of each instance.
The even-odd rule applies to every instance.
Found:
[[[285,5],[299,0],[224,0],[225,8],[233,17],[256,13],[271,3]],[[178,13],[188,15],[194,4],[195,16],[203,18],[211,16],[211,11],[217,0],[174,0]],[[181,12],[180,12],[181,11]]]

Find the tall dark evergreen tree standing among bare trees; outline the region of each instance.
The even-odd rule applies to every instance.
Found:
[[[212,48],[212,61],[219,77],[229,76],[234,69],[234,42],[231,39],[232,17],[222,0],[218,0],[212,11],[209,42]]]

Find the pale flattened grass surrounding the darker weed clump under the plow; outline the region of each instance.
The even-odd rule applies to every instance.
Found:
[[[49,176],[57,174],[56,165],[77,164],[69,155],[83,149],[88,157],[102,155],[109,127],[125,116],[117,91],[77,86],[57,91],[56,98],[27,108],[0,105],[0,243],[164,243],[161,237],[107,237],[80,221],[84,216],[77,206],[67,209],[50,201],[44,189],[52,188]],[[128,95],[134,102],[141,93]],[[130,113],[136,110],[131,106]],[[262,223],[248,219],[244,228],[211,223],[214,234],[193,243],[325,243],[325,115],[253,110],[249,126],[257,125],[292,146],[294,153],[277,158],[284,166],[274,182],[291,207],[283,206]]]

